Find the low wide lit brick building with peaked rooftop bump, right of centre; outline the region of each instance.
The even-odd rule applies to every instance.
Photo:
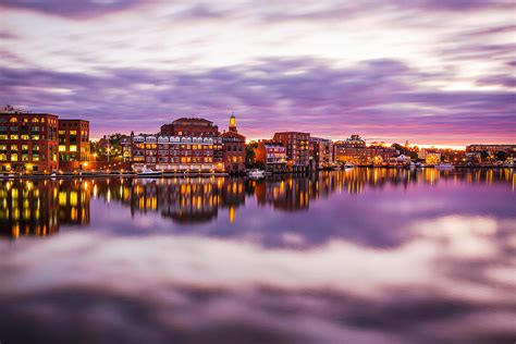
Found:
[[[382,164],[400,153],[392,147],[366,146],[366,142],[358,135],[335,142],[333,151],[335,161],[358,165]]]

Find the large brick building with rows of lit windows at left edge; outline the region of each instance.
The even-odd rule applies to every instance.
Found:
[[[8,106],[0,112],[0,171],[58,170],[58,116]]]

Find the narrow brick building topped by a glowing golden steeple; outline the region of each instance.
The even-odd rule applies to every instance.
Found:
[[[241,173],[245,171],[245,136],[236,130],[236,118],[231,115],[229,131],[220,135],[222,139],[222,160],[224,171]]]

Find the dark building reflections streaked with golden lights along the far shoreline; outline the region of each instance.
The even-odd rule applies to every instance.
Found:
[[[388,186],[439,186],[440,182],[460,185],[507,185],[514,192],[512,169],[422,171],[395,169],[354,169],[323,172],[310,176],[274,175],[262,181],[235,177],[162,180],[45,180],[0,181],[0,224],[3,236],[46,236],[60,225],[88,225],[90,200],[120,202],[131,214],[157,212],[174,223],[195,224],[217,219],[228,211],[231,223],[246,198],[258,207],[279,211],[308,210],[310,204],[331,194],[360,195]]]

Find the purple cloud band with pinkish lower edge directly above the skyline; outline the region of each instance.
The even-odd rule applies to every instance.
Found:
[[[397,60],[333,67],[319,59],[266,59],[196,72],[99,72],[101,76],[3,67],[0,81],[13,102],[87,118],[96,135],[156,132],[162,123],[191,114],[222,125],[232,110],[249,137],[296,127],[333,137],[359,131],[413,140],[440,135],[457,142],[454,134],[489,140],[514,137],[516,127],[513,91],[423,87],[425,82],[445,75],[423,73]]]

